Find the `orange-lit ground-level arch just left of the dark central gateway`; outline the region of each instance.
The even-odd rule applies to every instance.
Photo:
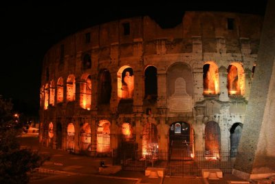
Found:
[[[142,156],[157,156],[159,145],[156,125],[150,122],[146,123],[142,133]]]

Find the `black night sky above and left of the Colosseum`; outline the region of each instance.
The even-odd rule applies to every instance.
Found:
[[[0,94],[5,99],[12,98],[16,103],[14,108],[19,112],[38,114],[43,56],[51,45],[77,30],[143,15],[155,19],[163,28],[169,28],[180,23],[187,10],[264,15],[267,0],[255,1],[191,0],[148,5],[140,1],[125,1],[110,5],[108,1],[96,4],[95,1],[56,0],[2,4]]]

